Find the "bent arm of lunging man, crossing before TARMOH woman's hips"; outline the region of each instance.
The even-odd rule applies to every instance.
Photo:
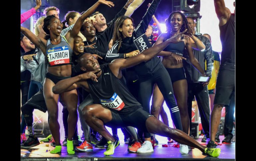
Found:
[[[60,94],[63,92],[68,92],[74,90],[79,87],[83,87],[85,90],[89,90],[87,79],[96,79],[97,76],[95,75],[96,72],[99,72],[100,69],[86,72],[75,77],[71,77],[68,79],[64,79],[59,81],[55,86],[53,86],[53,93]]]

